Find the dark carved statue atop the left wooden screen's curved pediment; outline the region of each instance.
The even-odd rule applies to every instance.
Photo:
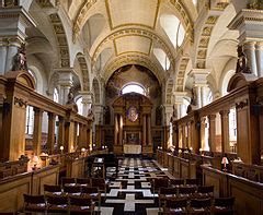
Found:
[[[28,71],[26,63],[26,55],[25,55],[25,44],[22,44],[18,50],[18,53],[13,57],[12,71]]]

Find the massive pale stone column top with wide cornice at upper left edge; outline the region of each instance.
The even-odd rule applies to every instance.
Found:
[[[36,26],[31,15],[22,7],[12,7],[11,4],[1,9],[0,74],[4,74],[12,69],[13,57],[25,41],[25,29]]]

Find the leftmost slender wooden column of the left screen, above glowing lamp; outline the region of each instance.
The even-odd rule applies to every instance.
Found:
[[[41,154],[43,110],[34,107],[33,153]]]

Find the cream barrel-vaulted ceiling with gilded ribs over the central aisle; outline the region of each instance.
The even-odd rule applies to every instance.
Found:
[[[75,0],[69,16],[73,41],[84,43],[105,81],[123,65],[140,64],[161,82],[192,38],[193,9],[191,0]]]

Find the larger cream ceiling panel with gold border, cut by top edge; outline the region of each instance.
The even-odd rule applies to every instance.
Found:
[[[141,25],[155,27],[160,0],[106,0],[111,27]]]

